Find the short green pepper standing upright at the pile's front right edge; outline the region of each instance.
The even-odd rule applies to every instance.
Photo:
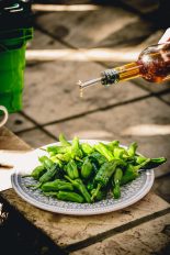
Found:
[[[118,199],[121,197],[121,180],[123,177],[123,170],[117,167],[114,173],[114,177],[112,179],[112,185],[113,185],[113,197],[115,199]]]

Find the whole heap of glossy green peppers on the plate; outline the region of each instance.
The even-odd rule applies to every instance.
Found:
[[[69,143],[64,134],[59,142],[46,148],[48,156],[38,158],[39,166],[30,177],[37,181],[31,188],[64,201],[92,203],[105,199],[109,192],[118,199],[121,186],[136,179],[140,169],[156,168],[167,160],[137,154],[137,143],[127,148],[118,141],[91,146],[77,136]]]

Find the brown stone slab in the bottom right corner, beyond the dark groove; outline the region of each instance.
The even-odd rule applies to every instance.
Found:
[[[110,239],[106,239],[102,242],[93,244],[87,248],[82,248],[78,252],[71,253],[71,255],[98,255],[98,254],[107,254],[107,255],[136,255],[136,254],[159,254],[160,246],[169,244],[168,235],[165,239],[165,233],[162,230],[163,222],[169,221],[169,215],[166,218],[159,218],[152,220],[149,224],[140,224],[137,228],[128,230],[123,234],[116,234]],[[149,235],[147,229],[149,228]],[[135,239],[134,239],[135,236]],[[158,237],[159,241],[155,242],[155,237]],[[137,241],[136,241],[137,240]],[[149,240],[152,240],[150,243]],[[159,252],[158,252],[159,251]],[[166,254],[165,251],[161,251],[160,254]],[[167,253],[168,254],[168,253]]]

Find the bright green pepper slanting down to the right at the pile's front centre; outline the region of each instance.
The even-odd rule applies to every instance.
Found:
[[[91,202],[91,197],[90,197],[90,193],[88,192],[86,186],[83,185],[82,180],[81,179],[70,179],[68,176],[65,176],[66,179],[68,179],[76,189],[78,189],[80,191],[80,193],[83,196],[84,200],[87,202]]]

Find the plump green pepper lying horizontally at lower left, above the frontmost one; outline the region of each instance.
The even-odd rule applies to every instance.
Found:
[[[56,179],[54,181],[48,181],[42,185],[41,189],[45,192],[58,191],[58,190],[73,190],[73,186],[65,180]]]

